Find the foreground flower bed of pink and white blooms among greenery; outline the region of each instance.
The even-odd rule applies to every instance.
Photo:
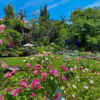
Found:
[[[97,100],[100,63],[84,58],[65,59],[50,52],[24,60],[20,70],[0,67],[0,100]],[[57,90],[62,90],[59,92]]]

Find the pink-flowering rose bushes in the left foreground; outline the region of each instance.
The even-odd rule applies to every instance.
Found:
[[[12,96],[14,100],[20,96],[28,100],[36,98],[39,100],[40,97],[57,100],[61,94],[56,93],[56,90],[61,89],[67,81],[65,73],[68,72],[68,68],[61,65],[57,68],[52,66],[54,56],[51,57],[50,54],[47,52],[39,54],[31,60],[26,60],[20,70],[13,69],[6,72],[3,76],[2,96],[7,98]],[[5,70],[7,65],[1,64],[1,68]]]

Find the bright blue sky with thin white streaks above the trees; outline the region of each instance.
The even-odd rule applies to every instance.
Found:
[[[32,17],[32,14],[39,14],[40,7],[45,4],[48,6],[48,11],[51,19],[61,19],[61,16],[69,18],[70,13],[77,8],[99,7],[100,0],[0,0],[0,17],[4,16],[4,7],[10,3],[15,12],[23,9],[27,12],[27,18]]]

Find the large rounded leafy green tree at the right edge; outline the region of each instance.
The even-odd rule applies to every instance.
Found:
[[[79,41],[79,47],[86,50],[99,50],[100,9],[78,9],[72,12],[68,37]]]

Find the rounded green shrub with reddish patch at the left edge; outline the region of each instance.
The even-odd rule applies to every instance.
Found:
[[[3,40],[3,45],[0,45],[0,56],[15,56],[16,48],[21,46],[23,38],[20,32],[6,29],[0,34],[0,39]]]

